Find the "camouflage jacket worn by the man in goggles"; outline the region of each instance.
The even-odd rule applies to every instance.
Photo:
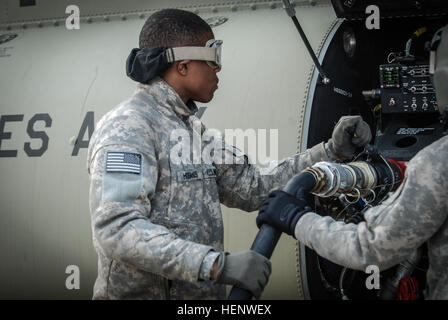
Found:
[[[228,146],[221,151],[235,164],[172,161],[170,150],[182,141],[170,134],[192,135],[196,110],[156,78],[98,122],[88,150],[99,258],[94,299],[224,299],[224,285],[199,280],[204,257],[223,250],[220,202],[256,210],[294,174],[331,160],[321,143],[279,162],[274,175],[262,175]],[[139,154],[141,174],[106,172],[107,152]]]

